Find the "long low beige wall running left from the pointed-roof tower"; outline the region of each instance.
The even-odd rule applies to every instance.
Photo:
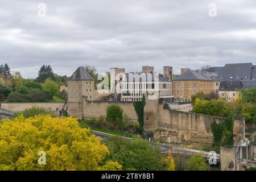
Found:
[[[51,111],[59,111],[61,109],[66,109],[65,103],[55,102],[29,102],[29,103],[1,103],[0,108],[13,111],[14,113],[18,113],[20,111],[24,111],[26,109],[30,109],[31,107],[43,107],[45,109],[49,109]]]

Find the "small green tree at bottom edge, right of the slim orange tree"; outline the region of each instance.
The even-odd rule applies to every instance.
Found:
[[[209,171],[210,165],[205,163],[205,159],[201,154],[194,154],[187,161],[187,171]]]

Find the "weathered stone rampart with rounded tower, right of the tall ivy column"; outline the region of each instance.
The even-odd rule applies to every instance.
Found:
[[[144,129],[154,131],[154,139],[163,142],[188,142],[210,145],[213,134],[210,125],[224,118],[171,110],[158,100],[146,100]]]

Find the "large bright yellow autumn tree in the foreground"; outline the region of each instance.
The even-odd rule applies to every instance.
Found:
[[[0,124],[0,170],[119,170],[105,144],[76,118],[23,115]]]

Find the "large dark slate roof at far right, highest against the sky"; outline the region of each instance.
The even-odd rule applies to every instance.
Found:
[[[218,72],[216,80],[251,80],[252,76],[256,80],[254,67],[252,63],[225,64]]]

